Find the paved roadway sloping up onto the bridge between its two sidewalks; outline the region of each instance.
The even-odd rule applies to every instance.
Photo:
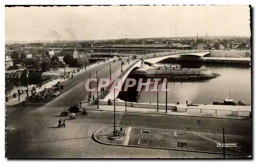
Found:
[[[123,58],[124,62],[126,58]],[[131,59],[130,59],[131,60]],[[111,62],[111,72],[115,72],[121,68],[121,62]],[[92,68],[88,71],[81,72],[73,77],[73,79],[68,79],[64,82],[64,89],[61,90],[61,96],[53,97],[51,93],[49,93],[49,98],[44,100],[26,100],[28,106],[42,106],[47,104],[48,106],[70,106],[72,104],[78,104],[80,100],[84,100],[88,97],[89,92],[84,88],[84,84],[89,79],[89,73],[91,73],[91,77],[96,78],[96,71],[98,71],[98,78],[108,78],[110,76],[110,67],[109,62],[105,62],[100,66]],[[92,82],[91,87],[96,87],[96,83]],[[21,106],[22,104],[18,104]]]

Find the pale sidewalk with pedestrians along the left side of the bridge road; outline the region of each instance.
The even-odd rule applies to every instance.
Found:
[[[113,60],[113,59],[112,59]],[[111,60],[111,61],[112,61]],[[104,62],[100,62],[100,64],[98,64],[98,63],[95,63],[95,64],[92,64],[92,65],[89,65],[89,66],[87,66],[86,67],[86,70],[90,70],[90,69],[92,69],[92,68],[94,68],[94,67],[97,67],[97,66],[100,66],[101,64],[103,64]],[[76,75],[78,75],[78,74],[80,74],[80,73],[82,73],[82,72],[84,72],[84,71],[86,71],[86,70],[84,70],[84,68],[83,69],[79,69],[79,72],[76,72],[75,74],[73,74],[74,76],[76,76]],[[66,78],[66,79],[54,79],[54,80],[52,80],[51,82],[48,82],[48,83],[46,83],[45,85],[42,85],[42,87],[41,87],[41,89],[39,89],[39,88],[36,88],[36,92],[40,92],[40,91],[43,91],[45,88],[51,88],[51,87],[53,87],[57,82],[65,82],[66,80],[68,80],[69,78]],[[29,86],[29,88],[31,88],[31,87],[35,87],[36,85],[30,85]],[[19,97],[19,101],[18,101],[18,96],[16,95],[16,98],[12,98],[12,99],[9,99],[9,102],[6,102],[6,106],[10,106],[10,105],[15,105],[15,104],[17,104],[17,103],[20,103],[20,102],[23,102],[24,100],[26,100],[26,98],[27,98],[27,93],[25,92],[25,90],[27,90],[27,87],[20,87],[20,89],[23,89],[24,90],[24,93],[22,94],[22,95],[20,95],[20,97]],[[16,89],[16,94],[17,94],[17,91],[18,89]],[[14,90],[15,91],[15,90]],[[14,93],[14,91],[12,92],[12,94]],[[29,96],[31,96],[31,92],[29,91]],[[97,97],[97,95],[95,96],[95,97]]]

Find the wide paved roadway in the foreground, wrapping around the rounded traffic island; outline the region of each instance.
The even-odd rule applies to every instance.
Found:
[[[56,128],[62,107],[12,108],[7,112],[6,126],[16,126],[7,132],[7,157],[221,157],[215,154],[142,149],[101,145],[92,140],[97,129],[113,125],[113,112],[89,111],[87,116],[67,120],[66,128]],[[15,113],[15,114],[14,114]],[[189,131],[227,134],[251,133],[250,121],[156,116],[117,113],[116,125],[162,129],[185,128]]]

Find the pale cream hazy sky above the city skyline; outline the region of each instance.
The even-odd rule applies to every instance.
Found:
[[[5,8],[5,39],[94,40],[250,37],[248,6],[91,6]]]

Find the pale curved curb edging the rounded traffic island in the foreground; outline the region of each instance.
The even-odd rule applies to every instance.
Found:
[[[162,150],[175,150],[175,151],[185,151],[185,152],[198,152],[198,153],[210,153],[210,154],[223,154],[220,152],[208,152],[208,151],[198,151],[198,150],[189,150],[189,149],[175,149],[175,148],[162,148],[162,147],[145,147],[145,146],[135,146],[135,145],[121,145],[121,144],[111,144],[111,143],[105,143],[105,142],[101,142],[96,138],[96,133],[104,128],[108,128],[108,127],[114,127],[114,126],[105,126],[102,128],[99,128],[98,130],[96,130],[93,133],[93,140],[96,141],[97,143],[100,144],[104,144],[104,145],[112,145],[112,146],[122,146],[122,147],[136,147],[136,148],[151,148],[151,149],[162,149]],[[127,126],[116,126],[116,127],[127,127]],[[238,156],[240,154],[232,154],[232,153],[225,153],[226,155],[234,155],[234,156]],[[244,155],[241,155],[244,156]]]

